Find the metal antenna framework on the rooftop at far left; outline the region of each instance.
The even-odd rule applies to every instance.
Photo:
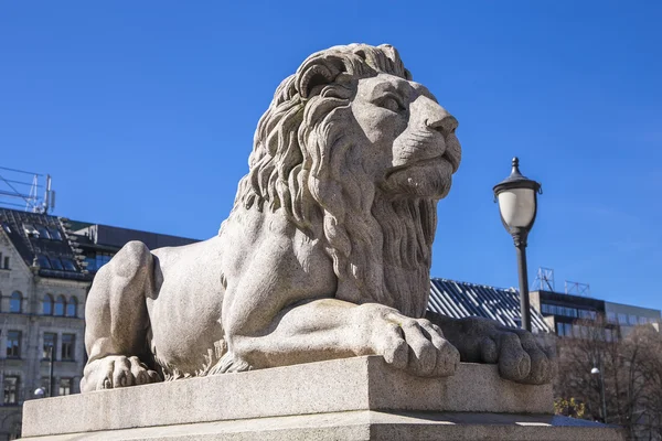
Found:
[[[30,178],[28,178],[30,176]],[[28,182],[31,181],[31,182]],[[29,187],[25,191],[21,187]],[[39,197],[45,189],[44,197]],[[49,213],[55,207],[55,192],[51,190],[51,175],[0,166],[0,206],[24,208],[32,213]]]

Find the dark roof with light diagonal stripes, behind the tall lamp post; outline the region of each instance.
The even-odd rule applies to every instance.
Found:
[[[519,327],[515,319],[521,318],[520,293],[514,288],[494,288],[438,278],[431,279],[428,309],[455,319],[492,319],[509,327]],[[533,331],[552,332],[541,313],[534,308],[530,310]]]

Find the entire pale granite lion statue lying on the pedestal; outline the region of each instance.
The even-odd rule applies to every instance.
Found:
[[[98,271],[82,390],[369,354],[418,376],[467,361],[549,381],[530,333],[426,318],[457,126],[389,45],[309,56],[261,117],[218,235],[132,241]]]

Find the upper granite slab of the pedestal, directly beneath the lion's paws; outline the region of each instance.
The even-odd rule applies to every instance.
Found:
[[[493,365],[419,378],[369,356],[30,400],[23,435],[361,410],[551,415],[553,396],[551,385],[504,380]]]

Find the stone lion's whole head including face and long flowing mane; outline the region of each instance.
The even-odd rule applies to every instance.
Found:
[[[286,78],[261,117],[235,208],[284,211],[325,241],[337,298],[421,316],[457,120],[389,45],[335,46]]]

